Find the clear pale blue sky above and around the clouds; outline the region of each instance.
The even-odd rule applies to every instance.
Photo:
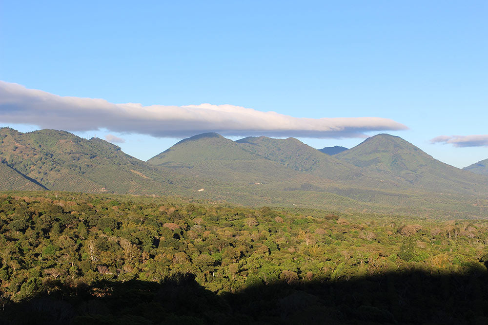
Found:
[[[385,132],[465,167],[488,158],[487,17],[486,0],[0,0],[0,80],[110,103],[388,118],[408,130]],[[144,160],[181,138],[75,133],[112,134]],[[454,141],[471,135],[470,147]],[[363,141],[299,138],[315,148]]]

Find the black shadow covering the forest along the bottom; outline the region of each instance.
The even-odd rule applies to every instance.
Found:
[[[488,324],[488,272],[388,273],[217,295],[193,275],[162,283],[44,284],[0,324]]]

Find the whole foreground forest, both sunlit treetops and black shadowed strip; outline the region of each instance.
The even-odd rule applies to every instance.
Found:
[[[3,192],[0,318],[486,324],[487,234],[485,220]]]

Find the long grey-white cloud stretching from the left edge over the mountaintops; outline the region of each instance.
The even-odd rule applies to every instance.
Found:
[[[365,132],[407,129],[381,117],[303,118],[232,105],[114,104],[104,99],[57,96],[5,81],[0,81],[0,122],[172,138],[205,132],[228,136],[364,138]]]

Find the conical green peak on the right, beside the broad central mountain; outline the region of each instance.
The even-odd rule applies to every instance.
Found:
[[[334,155],[364,170],[378,172],[385,180],[404,186],[447,193],[487,193],[488,178],[447,165],[401,137],[378,134],[345,152]]]

